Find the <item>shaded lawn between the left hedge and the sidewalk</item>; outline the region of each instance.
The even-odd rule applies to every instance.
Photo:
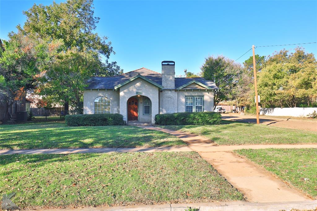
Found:
[[[69,127],[64,122],[0,125],[0,149],[186,146],[179,138],[136,126]]]

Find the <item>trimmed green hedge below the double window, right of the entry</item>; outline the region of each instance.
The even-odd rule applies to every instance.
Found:
[[[221,114],[217,112],[184,112],[155,115],[158,125],[219,125]]]

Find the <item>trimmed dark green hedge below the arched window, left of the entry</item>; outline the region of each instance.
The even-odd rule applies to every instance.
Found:
[[[123,116],[113,113],[66,115],[65,122],[68,126],[124,125]]]

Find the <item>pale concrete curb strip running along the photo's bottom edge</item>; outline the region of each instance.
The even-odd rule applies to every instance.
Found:
[[[273,203],[252,203],[243,201],[212,202],[212,203],[188,203],[188,204],[153,204],[131,205],[120,207],[86,207],[72,209],[44,209],[36,211],[184,211],[185,209],[200,208],[200,211],[277,211],[292,208],[300,210],[313,210],[317,207],[317,201],[293,201]]]

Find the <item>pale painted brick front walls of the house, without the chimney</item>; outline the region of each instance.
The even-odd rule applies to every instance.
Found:
[[[213,111],[213,90],[184,91],[159,89],[143,79],[136,79],[120,87],[120,91],[113,90],[85,90],[84,114],[94,113],[94,100],[105,96],[110,99],[110,112],[120,113],[127,119],[127,100],[136,96],[136,92],[142,92],[143,96],[151,99],[151,115],[143,115],[143,96],[139,97],[139,121],[155,122],[155,115],[160,113],[185,112],[185,96],[204,96],[204,111]],[[141,103],[142,102],[142,103]]]

